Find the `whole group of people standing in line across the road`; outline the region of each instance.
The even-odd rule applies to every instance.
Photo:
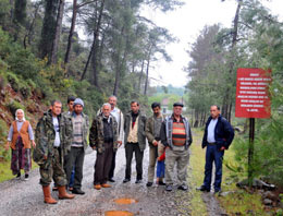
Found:
[[[30,143],[34,146],[33,158],[39,165],[40,184],[45,202],[56,204],[51,196],[50,184],[53,179],[59,199],[73,199],[74,194],[85,194],[82,190],[83,165],[88,145],[97,152],[94,173],[94,189],[111,188],[114,182],[115,155],[118,148],[125,147],[125,178],[131,181],[132,159],[135,154],[136,180],[143,182],[143,158],[146,143],[149,144],[148,180],[146,185],[156,183],[173,190],[174,167],[176,167],[177,189],[186,191],[189,146],[193,142],[188,120],[182,115],[183,104],[173,105],[172,116],[161,113],[159,103],[153,103],[153,115],[146,118],[139,110],[138,101],[131,103],[131,111],[123,115],[116,107],[116,97],[110,96],[89,125],[84,113],[81,98],[67,98],[69,110],[62,112],[62,103],[54,100],[39,119],[35,136],[22,109],[16,110],[7,148],[12,148],[11,169],[21,178],[21,169],[28,180],[30,163]],[[234,137],[231,124],[220,115],[218,106],[211,106],[207,121],[202,147],[207,147],[204,184],[201,191],[210,191],[212,163],[216,164],[214,192],[221,190],[222,159]],[[89,129],[90,128],[90,129]],[[89,133],[89,134],[88,134]],[[89,144],[87,142],[89,137]],[[157,165],[157,169],[156,169]],[[176,166],[175,166],[176,165]],[[66,191],[72,192],[67,193]]]

